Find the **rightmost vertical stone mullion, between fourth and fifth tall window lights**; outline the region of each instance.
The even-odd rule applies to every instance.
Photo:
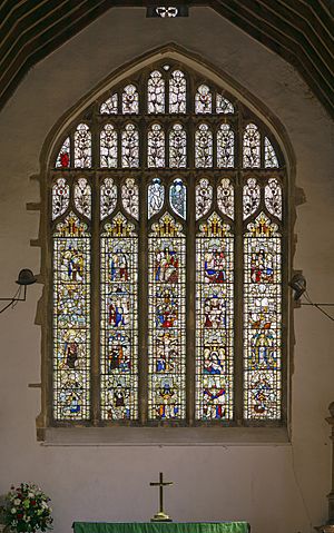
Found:
[[[243,132],[239,110],[236,134],[237,174],[235,181],[235,249],[234,249],[234,420],[243,424],[244,402],[244,239],[243,239]]]

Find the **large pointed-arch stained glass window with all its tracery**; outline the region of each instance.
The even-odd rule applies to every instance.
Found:
[[[258,117],[159,61],[52,167],[52,424],[284,422],[286,175]]]

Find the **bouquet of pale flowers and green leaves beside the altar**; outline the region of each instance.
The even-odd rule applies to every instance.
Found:
[[[8,531],[35,533],[52,529],[50,499],[33,483],[11,487],[1,507],[2,522]]]

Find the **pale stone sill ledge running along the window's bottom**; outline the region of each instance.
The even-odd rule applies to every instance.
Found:
[[[286,427],[49,427],[42,446],[286,446]]]

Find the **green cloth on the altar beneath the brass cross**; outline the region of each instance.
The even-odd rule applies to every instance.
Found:
[[[75,522],[75,533],[248,533],[247,522]]]

